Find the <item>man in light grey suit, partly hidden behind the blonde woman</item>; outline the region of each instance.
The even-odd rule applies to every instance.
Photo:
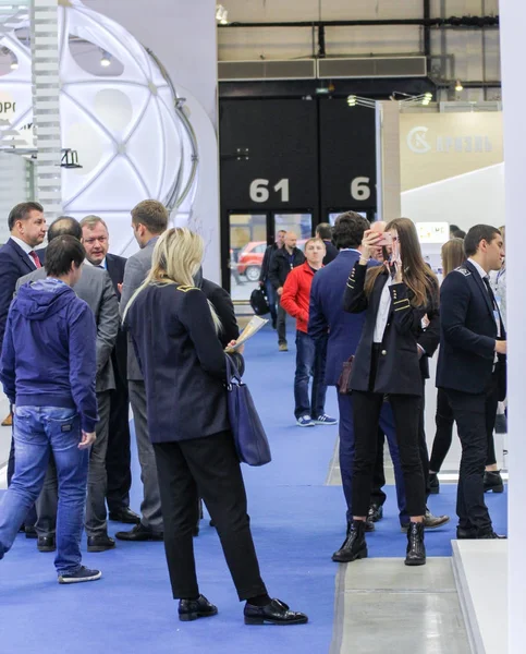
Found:
[[[121,292],[121,316],[124,314],[130,299],[146,279],[151,268],[151,257],[156,242],[168,228],[168,210],[160,202],[145,199],[132,209],[132,228],[140,250],[126,262]],[[121,541],[134,542],[162,541],[164,534],[161,499],[154,447],[148,436],[146,389],[131,338],[127,341],[127,383],[135,424],[135,437],[137,439],[144,499],[140,505],[140,523],[136,524],[131,531],[118,532],[115,537]]]

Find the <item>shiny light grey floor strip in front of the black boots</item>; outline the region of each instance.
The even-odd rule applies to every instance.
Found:
[[[469,654],[450,558],[340,566],[330,654]]]

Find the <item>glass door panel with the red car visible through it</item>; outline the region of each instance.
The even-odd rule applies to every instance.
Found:
[[[230,215],[230,293],[248,301],[259,286],[267,247],[267,214]]]

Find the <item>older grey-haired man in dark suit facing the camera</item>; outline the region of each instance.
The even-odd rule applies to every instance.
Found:
[[[126,259],[109,254],[110,235],[108,226],[99,216],[86,216],[81,220],[82,243],[86,250],[86,264],[103,268],[111,278],[117,298],[121,300]],[[126,524],[138,524],[140,517],[130,509],[130,488],[132,486],[130,449],[130,398],[127,395],[127,337],[119,329],[117,343],[111,353],[115,389],[111,392],[110,425],[106,471],[108,488],[106,499],[110,520]]]

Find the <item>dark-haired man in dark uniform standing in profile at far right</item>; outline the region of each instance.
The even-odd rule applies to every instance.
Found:
[[[467,261],[440,292],[437,386],[448,395],[462,445],[456,535],[499,538],[484,500],[484,472],[487,459],[494,460],[497,404],[505,396],[506,335],[489,284],[490,270],[502,266],[503,239],[497,228],[477,225],[464,247]]]

